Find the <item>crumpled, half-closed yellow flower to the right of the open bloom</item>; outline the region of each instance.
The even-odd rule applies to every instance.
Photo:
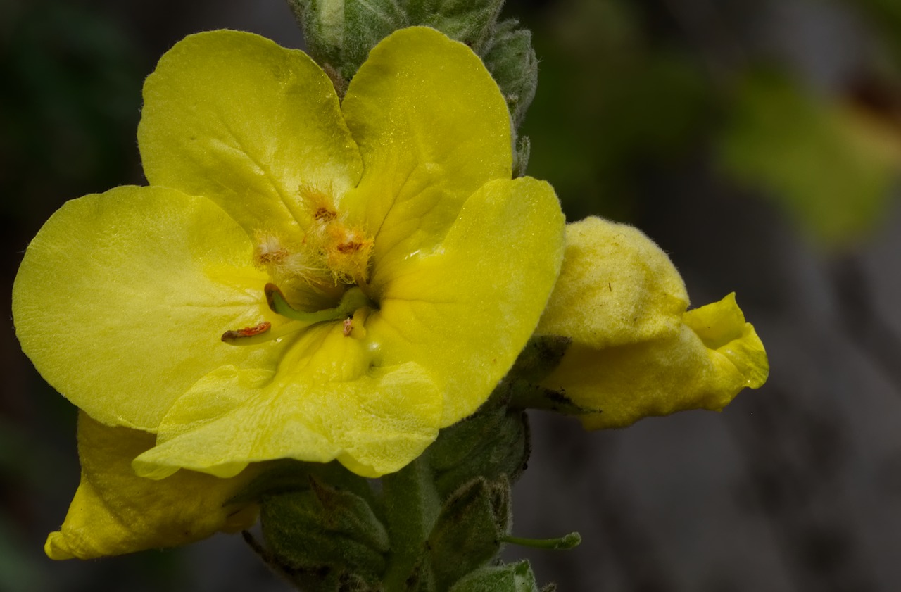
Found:
[[[720,410],[769,374],[763,343],[733,294],[686,312],[666,253],[641,231],[587,218],[567,225],[560,279],[537,330],[572,345],[542,386],[587,410],[588,429],[648,415]]]

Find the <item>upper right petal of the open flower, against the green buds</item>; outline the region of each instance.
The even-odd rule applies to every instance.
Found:
[[[392,262],[431,249],[463,202],[511,176],[510,116],[475,53],[424,27],[389,35],[369,54],[341,103],[365,173],[341,200],[364,213],[385,281]]]

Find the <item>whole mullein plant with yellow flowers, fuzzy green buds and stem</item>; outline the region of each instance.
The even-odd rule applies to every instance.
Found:
[[[688,310],[642,232],[523,176],[536,59],[502,0],[289,2],[309,53],[179,41],[144,84],[149,185],[25,251],[17,335],[80,409],[45,551],[245,531],[298,589],[537,591],[501,547],[578,534],[511,531],[525,411],[719,410],[766,353],[733,295]]]

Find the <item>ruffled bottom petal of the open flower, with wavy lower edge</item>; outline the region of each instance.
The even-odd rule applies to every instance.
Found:
[[[275,374],[219,369],[199,381],[134,466],[153,478],[178,467],[231,476],[259,460],[338,459],[378,477],[419,456],[440,421],[441,392],[423,368],[382,366],[342,323],[321,323]]]

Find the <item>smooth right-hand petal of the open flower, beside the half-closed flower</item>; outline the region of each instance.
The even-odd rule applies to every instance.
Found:
[[[563,227],[547,183],[491,181],[440,245],[393,264],[367,331],[385,363],[428,369],[446,393],[442,426],[485,402],[523,350],[560,271]]]

